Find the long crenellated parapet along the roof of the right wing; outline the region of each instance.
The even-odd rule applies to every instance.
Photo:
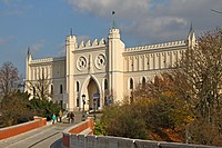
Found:
[[[163,49],[163,48],[171,48],[171,47],[181,47],[186,46],[185,40],[180,41],[173,41],[173,42],[164,42],[164,43],[158,43],[158,45],[149,45],[149,46],[141,46],[141,47],[132,47],[132,48],[125,48],[125,52],[131,51],[143,51],[143,50],[152,50],[152,49]]]

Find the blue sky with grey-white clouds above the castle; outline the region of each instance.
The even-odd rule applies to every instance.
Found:
[[[0,0],[0,66],[24,77],[28,47],[33,59],[64,56],[71,29],[78,41],[107,39],[113,19],[125,47],[186,39],[191,23],[201,37],[221,28],[220,12],[222,0]]]

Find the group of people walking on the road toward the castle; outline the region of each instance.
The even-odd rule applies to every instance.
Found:
[[[52,115],[52,125],[56,124],[56,121],[58,122],[62,122],[62,116],[63,116],[63,112],[62,110],[59,111],[59,118],[57,118],[56,114]],[[67,120],[68,122],[70,124],[73,124],[74,122],[74,114],[72,111],[69,111],[67,114]]]

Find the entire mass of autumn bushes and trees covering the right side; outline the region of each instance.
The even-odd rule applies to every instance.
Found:
[[[103,134],[222,146],[222,30],[205,32],[176,68],[105,107]]]

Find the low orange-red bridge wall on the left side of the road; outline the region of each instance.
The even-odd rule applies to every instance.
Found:
[[[0,140],[6,139],[47,125],[46,118],[34,118],[33,121],[6,127],[0,129]]]

